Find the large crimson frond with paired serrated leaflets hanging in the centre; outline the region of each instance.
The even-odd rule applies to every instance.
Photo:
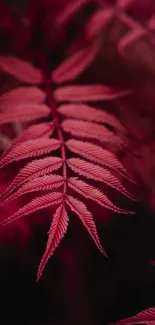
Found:
[[[56,28],[67,24],[74,13],[78,12],[86,3],[87,0],[79,0],[76,5],[75,3],[67,5],[64,13],[58,16]],[[102,84],[67,84],[55,87],[60,83],[74,80],[94,61],[100,46],[99,38],[95,40],[94,36],[101,25],[108,22],[112,14],[111,11],[105,11],[104,22],[102,21],[102,11],[96,14],[96,17],[99,17],[98,22],[96,17],[92,17],[88,23],[90,34],[87,29],[85,30],[86,38],[89,38],[89,41],[91,38],[89,45],[87,44],[85,48],[66,58],[53,72],[49,71],[44,50],[39,52],[39,57],[36,60],[40,69],[16,57],[0,56],[2,72],[24,83],[23,86],[21,84],[15,90],[0,96],[0,124],[33,122],[28,128],[25,126],[26,129],[23,133],[2,155],[1,168],[15,161],[33,158],[31,162],[20,169],[14,180],[2,193],[2,204],[28,193],[45,192],[39,196],[35,194],[35,198],[19,208],[1,224],[7,225],[30,213],[56,206],[37,279],[41,277],[48,259],[66,234],[69,221],[68,208],[80,218],[96,246],[105,256],[106,253],[101,246],[92,213],[87,207],[87,200],[94,201],[114,212],[132,213],[116,207],[97,188],[97,184],[100,182],[132,200],[135,199],[117,176],[113,175],[112,171],[121,173],[130,181],[133,181],[132,177],[118,158],[107,149],[108,143],[124,148],[126,130],[114,116],[88,104],[114,101],[127,96],[131,91],[114,89]],[[93,21],[95,21],[94,27]],[[55,83],[54,91],[51,81]],[[30,85],[25,86],[25,83]],[[40,86],[41,88],[39,88]],[[46,120],[41,121],[41,118],[46,118]],[[38,119],[39,121],[37,121]],[[113,131],[109,131],[107,125],[112,127]],[[87,141],[85,141],[86,139]],[[106,144],[106,149],[103,148],[104,144]],[[52,156],[53,151],[56,151],[56,156]],[[77,158],[68,156],[68,151],[69,154],[76,154]],[[49,153],[51,153],[50,157],[44,157]],[[38,156],[43,156],[43,158],[36,159]],[[78,158],[78,156],[82,158]],[[58,171],[59,174],[54,174],[54,171]],[[74,174],[78,175],[79,179],[70,177],[70,173],[73,176]],[[117,173],[115,174],[117,175]],[[83,178],[91,179],[94,185],[90,185]],[[59,191],[55,192],[55,189],[58,188]],[[78,195],[81,197],[80,200]]]

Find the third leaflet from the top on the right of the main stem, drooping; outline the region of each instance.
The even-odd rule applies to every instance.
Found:
[[[64,104],[58,108],[58,112],[78,120],[106,123],[119,132],[126,132],[123,125],[111,114],[84,104]]]

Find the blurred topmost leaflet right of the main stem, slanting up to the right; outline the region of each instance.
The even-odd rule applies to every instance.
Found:
[[[57,84],[77,78],[95,59],[99,44],[77,51],[53,71],[51,79]]]

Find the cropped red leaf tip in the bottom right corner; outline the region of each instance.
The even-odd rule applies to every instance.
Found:
[[[155,307],[140,311],[136,316],[132,316],[115,323],[115,325],[132,324],[155,325]]]

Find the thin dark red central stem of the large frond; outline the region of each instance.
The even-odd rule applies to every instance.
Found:
[[[60,127],[59,116],[56,108],[56,102],[54,99],[52,87],[51,87],[51,79],[50,79],[50,71],[48,69],[47,60],[45,53],[41,50],[39,52],[40,65],[42,70],[43,82],[45,85],[45,89],[47,92],[47,103],[51,109],[51,114],[53,117],[53,122],[56,128],[58,139],[61,142],[61,157],[63,161],[63,178],[64,178],[64,187],[63,187],[63,197],[65,199],[66,191],[67,191],[67,164],[66,164],[66,150],[65,150],[65,141],[63,137],[63,133]]]

